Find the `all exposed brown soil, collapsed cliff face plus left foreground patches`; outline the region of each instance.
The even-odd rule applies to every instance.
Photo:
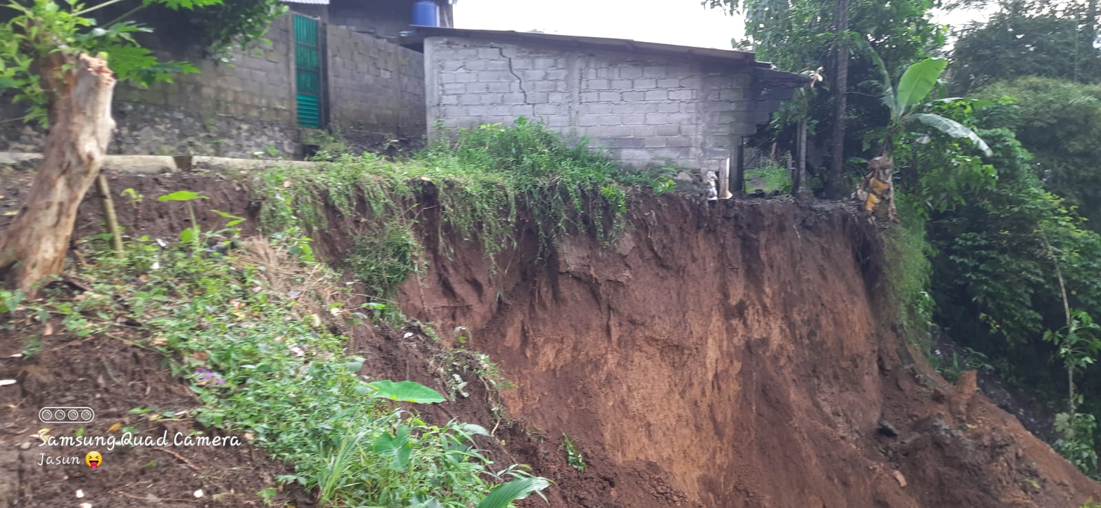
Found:
[[[214,198],[209,208],[250,211],[244,189],[210,175],[122,176],[112,186],[153,197],[203,190]],[[424,198],[422,223],[435,231],[432,194]],[[179,207],[146,199],[140,208],[135,233],[172,235],[186,224]],[[81,234],[99,232],[97,213],[95,203],[81,208],[88,218]],[[632,229],[615,245],[575,236],[545,258],[526,227],[494,276],[477,243],[426,238],[430,266],[403,287],[403,308],[442,331],[472,330],[465,346],[490,354],[516,385],[501,391],[514,421],[499,419],[486,385],[459,368],[461,358],[445,365],[446,351],[416,333],[415,323],[403,331],[357,330],[350,349],[367,356],[364,368],[379,377],[440,390],[445,376],[459,372],[469,397],[426,416],[495,427],[500,441],[481,444],[499,463],[527,463],[557,482],[547,492],[555,507],[1077,508],[1090,496],[1101,499],[1101,485],[977,393],[973,377],[948,384],[900,344],[877,313],[874,228],[847,208],[665,196],[635,200],[630,214]],[[120,221],[134,220],[120,205]],[[355,230],[344,218],[333,223],[334,231],[315,238],[338,261]],[[440,242],[454,252],[445,255]],[[414,334],[405,339],[406,331]],[[59,466],[56,474],[69,476],[64,481],[40,474],[30,462],[37,459],[33,449],[11,456],[37,430],[30,419],[40,404],[99,393],[97,418],[105,419],[126,418],[133,407],[195,404],[186,386],[156,368],[155,357],[132,346],[102,338],[48,340],[57,342],[33,363],[0,361],[0,378],[36,379],[0,387],[0,474],[22,472],[20,506],[70,506],[75,488],[162,499],[185,499],[200,486],[208,495],[253,495],[285,471],[240,446],[205,455],[175,450],[203,474],[157,451],[108,455],[97,471]],[[108,376],[99,387],[103,369],[96,365],[103,362],[119,380]],[[567,465],[564,433],[584,453],[584,472]],[[142,467],[151,459],[155,471]],[[10,461],[19,462],[13,468]],[[106,499],[91,503],[155,506]]]

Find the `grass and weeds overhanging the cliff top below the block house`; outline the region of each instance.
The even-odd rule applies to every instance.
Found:
[[[403,161],[344,154],[318,168],[276,168],[261,176],[265,231],[325,228],[324,206],[359,217],[394,236],[394,224],[416,221],[416,189],[438,187],[443,221],[492,256],[514,245],[524,207],[546,247],[562,234],[591,232],[612,240],[632,187],[672,189],[669,168],[628,172],[586,140],[564,137],[523,118],[460,129]],[[333,154],[326,154],[334,158]]]

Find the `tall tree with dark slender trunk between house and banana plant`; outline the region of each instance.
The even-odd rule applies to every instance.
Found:
[[[825,73],[824,87],[807,107],[807,158],[817,165],[815,161],[833,146],[837,101],[840,97],[837,62],[830,55],[833,48],[848,40],[848,34],[838,40],[833,22],[838,15],[837,4],[826,0],[705,0],[705,3],[745,18],[746,38],[737,42],[735,47],[755,51],[761,59],[772,62],[782,70],[830,69]],[[868,34],[872,47],[889,68],[905,68],[930,56],[944,44],[942,27],[929,20],[934,0],[847,0],[847,3],[848,31]],[[883,125],[886,118],[876,90],[870,85],[880,78],[874,65],[862,55],[846,58],[846,63],[843,109],[847,114],[842,140],[843,154],[852,157],[866,154],[863,134]],[[797,123],[798,119],[793,115],[777,117],[759,141],[762,145],[777,142],[782,147],[792,147],[798,137]],[[855,181],[861,172],[855,166],[844,166],[844,155],[835,158],[842,164],[842,174],[832,180],[840,188],[846,188],[846,181]],[[828,173],[818,170],[815,176],[819,183],[825,183]]]

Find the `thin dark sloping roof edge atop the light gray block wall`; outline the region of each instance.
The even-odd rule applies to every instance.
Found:
[[[514,43],[544,43],[559,47],[585,47],[595,49],[626,51],[631,53],[642,53],[650,55],[664,55],[676,57],[690,57],[696,59],[722,60],[733,64],[742,64],[752,67],[771,68],[767,62],[757,62],[756,53],[739,52],[732,49],[715,49],[710,47],[677,46],[675,44],[659,44],[630,38],[608,38],[608,37],[586,37],[578,35],[558,35],[537,32],[513,32],[504,30],[469,30],[448,29],[443,26],[414,26],[416,33],[401,37],[399,43],[405,47],[424,51],[425,37],[434,36],[456,36],[471,38],[490,38],[501,42]]]

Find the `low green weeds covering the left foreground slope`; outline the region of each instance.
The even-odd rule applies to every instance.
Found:
[[[203,235],[211,245],[236,231]],[[91,256],[83,274],[90,290],[78,298],[50,289],[43,301],[23,302],[24,311],[59,318],[77,336],[163,354],[199,395],[196,421],[293,463],[295,473],[280,481],[317,488],[323,506],[504,507],[547,486],[521,466],[492,466],[472,441],[486,429],[432,426],[388,401],[444,400],[435,390],[359,375],[363,358],[348,356],[346,339],[326,323],[366,316],[345,307],[350,295],[335,273],[292,257],[286,251],[298,243],[285,240],[224,255],[141,238],[122,259]],[[120,331],[119,316],[150,333]]]

